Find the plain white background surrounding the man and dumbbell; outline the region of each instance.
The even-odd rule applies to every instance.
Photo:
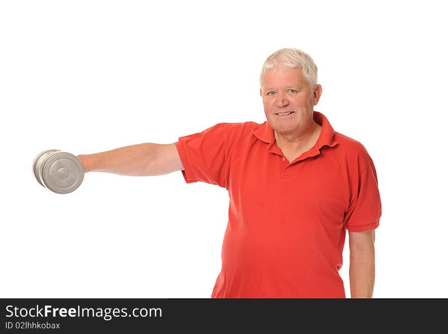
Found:
[[[180,171],[88,173],[60,195],[37,183],[32,161],[262,123],[259,73],[283,47],[312,56],[315,110],[374,160],[374,297],[448,297],[439,4],[3,1],[0,297],[210,297],[226,189]],[[350,297],[348,234],[343,257]]]

